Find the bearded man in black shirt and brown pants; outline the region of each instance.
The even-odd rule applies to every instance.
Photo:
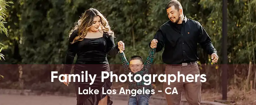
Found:
[[[178,94],[169,95],[165,93],[167,103],[168,105],[180,105],[184,90],[189,104],[199,105],[201,102],[201,78],[196,76],[200,74],[196,63],[198,60],[197,43],[211,55],[213,63],[217,63],[219,58],[217,50],[201,24],[183,15],[183,8],[179,1],[171,0],[166,6],[166,10],[170,20],[158,29],[149,46],[156,48],[156,52],[161,51],[164,47],[162,59],[166,64],[165,74],[167,77],[168,74],[176,76],[175,82],[171,82],[169,85],[168,82],[164,82],[164,90],[170,87],[171,89],[176,88],[178,92]],[[179,74],[184,76],[179,77]],[[187,78],[188,74],[192,74],[194,78],[191,79],[191,76]],[[170,77],[170,79],[175,78]],[[193,80],[193,82],[187,80]],[[173,92],[173,90],[167,90],[167,92]]]

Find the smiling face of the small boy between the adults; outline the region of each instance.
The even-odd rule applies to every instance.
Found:
[[[140,71],[143,68],[144,64],[139,59],[130,61],[130,69],[133,73]]]

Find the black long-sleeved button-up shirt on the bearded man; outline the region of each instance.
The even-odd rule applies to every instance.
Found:
[[[209,55],[217,54],[211,38],[201,24],[195,20],[187,19],[186,16],[182,24],[175,24],[170,20],[164,23],[156,32],[154,39],[158,40],[156,52],[161,51],[164,47],[162,59],[166,64],[197,61],[198,43]]]

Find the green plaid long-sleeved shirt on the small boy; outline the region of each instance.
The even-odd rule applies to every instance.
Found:
[[[144,67],[142,68],[142,70],[138,71],[136,73],[133,73],[130,69],[129,62],[127,61],[127,59],[124,55],[124,52],[120,53],[120,57],[121,57],[121,60],[122,60],[122,65],[123,65],[123,68],[124,68],[124,72],[127,73],[127,74],[131,73],[133,75],[133,76],[131,76],[131,79],[133,80],[133,82],[129,82],[129,85],[128,85],[128,88],[130,89],[130,91],[132,89],[135,89],[136,92],[138,90],[142,90],[141,94],[143,94],[143,88],[144,88],[144,93],[146,94],[146,90],[149,90],[149,91],[147,91],[147,93],[149,93],[149,96],[151,96],[151,90],[153,89],[152,85],[151,84],[150,85],[145,85],[144,84],[145,81],[143,80],[143,76],[145,74],[148,74],[148,69],[150,68],[151,64],[153,63],[154,56],[155,56],[155,48],[154,49],[150,48],[149,55],[148,55],[146,61],[144,62]],[[142,80],[140,82],[135,82],[134,81],[134,76],[136,74],[139,74],[139,75],[142,76]],[[136,79],[139,80],[140,79],[139,76],[137,76]],[[145,79],[148,80],[149,77],[145,76]],[[146,83],[148,83],[148,82],[146,82]],[[138,94],[136,93],[136,95],[138,95]],[[130,94],[130,96],[131,96],[131,94]]]

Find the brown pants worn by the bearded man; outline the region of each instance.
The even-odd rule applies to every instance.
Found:
[[[180,72],[179,75],[183,74],[185,77],[185,81],[183,82],[184,77],[178,76],[178,71]],[[164,93],[167,99],[168,105],[180,105],[181,103],[181,97],[182,97],[182,91],[185,91],[185,97],[186,100],[189,102],[189,105],[200,105],[201,102],[201,78],[200,78],[200,72],[197,63],[188,63],[186,66],[182,65],[170,65],[166,64],[165,67],[165,74],[167,81],[164,82]],[[173,76],[176,76],[175,82],[170,82],[170,85],[168,85],[168,74],[173,74]],[[192,74],[193,76],[188,76],[188,74]],[[199,76],[196,76],[199,75]],[[173,76],[170,76],[170,80],[175,79]],[[193,77],[193,78],[192,78]],[[178,82],[178,78],[180,78],[180,81]],[[187,81],[187,79],[189,81]],[[191,82],[193,80],[193,82]],[[196,81],[195,81],[196,80]],[[171,94],[167,94],[165,92]],[[170,89],[171,88],[171,89]],[[177,93],[173,93],[173,89],[176,88]]]

